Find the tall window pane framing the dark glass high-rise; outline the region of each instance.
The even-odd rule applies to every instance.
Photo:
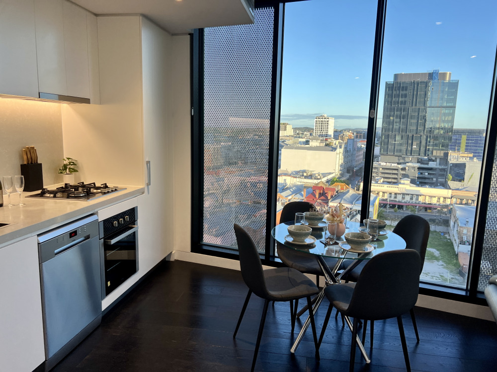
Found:
[[[390,225],[430,223],[427,283],[468,284],[496,12],[487,0],[387,2],[371,192]]]

